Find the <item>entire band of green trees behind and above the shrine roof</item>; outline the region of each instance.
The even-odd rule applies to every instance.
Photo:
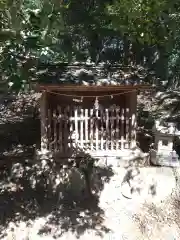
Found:
[[[42,80],[41,64],[90,59],[142,65],[178,85],[179,13],[167,0],[1,0],[2,82],[19,89]]]

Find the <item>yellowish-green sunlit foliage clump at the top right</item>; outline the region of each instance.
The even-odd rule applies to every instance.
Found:
[[[164,0],[116,0],[107,7],[117,28],[133,40],[150,44],[164,40],[166,26],[162,20],[166,8]]]

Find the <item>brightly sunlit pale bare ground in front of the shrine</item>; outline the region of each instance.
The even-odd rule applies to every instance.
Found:
[[[106,183],[99,198],[101,213],[93,212],[87,218],[86,211],[79,211],[76,216],[76,226],[87,219],[87,225],[82,230],[80,227],[73,230],[68,223],[68,230],[63,233],[59,221],[54,227],[49,221],[49,231],[40,235],[40,229],[44,227],[51,214],[36,218],[33,221],[19,223],[11,222],[5,229],[7,236],[1,239],[14,240],[38,240],[38,239],[94,239],[94,240],[177,240],[180,239],[179,229],[179,201],[177,199],[177,186],[179,172],[176,170],[176,178],[173,169],[170,168],[140,168],[133,171],[134,178],[129,179],[130,191],[124,178],[128,170],[122,167],[114,169],[114,175],[110,182]],[[121,183],[124,182],[124,184]],[[126,185],[126,186],[125,186]],[[152,185],[155,190],[152,190]],[[139,187],[140,193],[136,191]],[[123,197],[123,195],[125,197]],[[92,203],[89,203],[92,204]],[[74,214],[69,209],[69,214]],[[93,221],[96,219],[96,224]],[[69,226],[68,226],[69,224]],[[51,226],[52,225],[52,226]],[[64,227],[64,226],[63,226]]]

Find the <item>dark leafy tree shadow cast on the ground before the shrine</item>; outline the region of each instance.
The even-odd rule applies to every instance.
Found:
[[[10,222],[30,223],[38,217],[45,219],[39,234],[54,237],[68,231],[76,236],[88,229],[99,235],[109,231],[103,225],[104,212],[98,206],[98,198],[104,183],[113,175],[110,167],[93,168],[93,195],[89,196],[84,177],[77,167],[45,156],[38,161],[31,149],[23,150],[1,159],[1,232]]]

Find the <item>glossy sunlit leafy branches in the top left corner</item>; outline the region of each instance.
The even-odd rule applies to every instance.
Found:
[[[55,0],[9,4],[1,8],[1,75],[18,90],[36,80],[38,61],[61,60],[53,47],[64,31],[62,6]]]

